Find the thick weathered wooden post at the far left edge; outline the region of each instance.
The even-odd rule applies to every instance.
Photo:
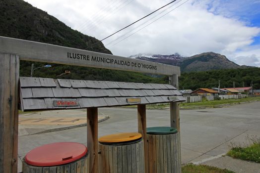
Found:
[[[17,173],[19,57],[0,53],[0,173]]]

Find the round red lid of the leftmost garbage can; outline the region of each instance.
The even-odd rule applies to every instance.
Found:
[[[85,156],[87,147],[76,142],[57,142],[31,150],[25,156],[29,165],[49,167],[71,163]]]

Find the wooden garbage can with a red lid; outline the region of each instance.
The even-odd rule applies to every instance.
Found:
[[[23,173],[87,173],[88,150],[76,142],[42,145],[23,159]],[[30,171],[29,171],[30,170]]]

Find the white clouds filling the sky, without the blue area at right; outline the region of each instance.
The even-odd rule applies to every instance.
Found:
[[[27,1],[48,11],[49,14],[54,15],[71,28],[99,40],[169,2],[168,0],[152,3],[150,0],[126,0],[124,4],[121,4],[120,0]],[[182,0],[181,3],[184,1]],[[245,51],[245,55],[241,55],[241,52],[237,53],[238,50],[253,43],[254,37],[260,34],[260,28],[249,27],[235,18],[227,18],[209,12],[207,9],[210,5],[212,6],[211,11],[214,11],[213,6],[215,8],[215,5],[212,5],[211,0],[190,0],[114,46],[111,46],[113,44],[108,45],[108,43],[131,31],[147,19],[103,43],[105,46],[108,45],[113,54],[122,56],[137,53],[172,54],[175,52],[191,56],[201,52],[214,51],[232,57],[232,60],[240,64],[246,64],[246,61],[243,63],[242,56],[247,57],[252,61],[256,60],[255,64],[260,66],[259,61],[257,62],[259,52],[256,52],[255,56],[249,51]],[[174,7],[176,6],[171,9]],[[149,18],[151,17],[153,15]],[[99,21],[99,19],[104,20]],[[249,64],[254,64],[254,62]]]

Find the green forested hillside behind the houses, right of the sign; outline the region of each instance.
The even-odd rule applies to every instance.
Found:
[[[179,89],[197,89],[199,87],[250,87],[253,81],[254,89],[260,88],[260,68],[210,70],[206,72],[182,73],[179,78]]]

